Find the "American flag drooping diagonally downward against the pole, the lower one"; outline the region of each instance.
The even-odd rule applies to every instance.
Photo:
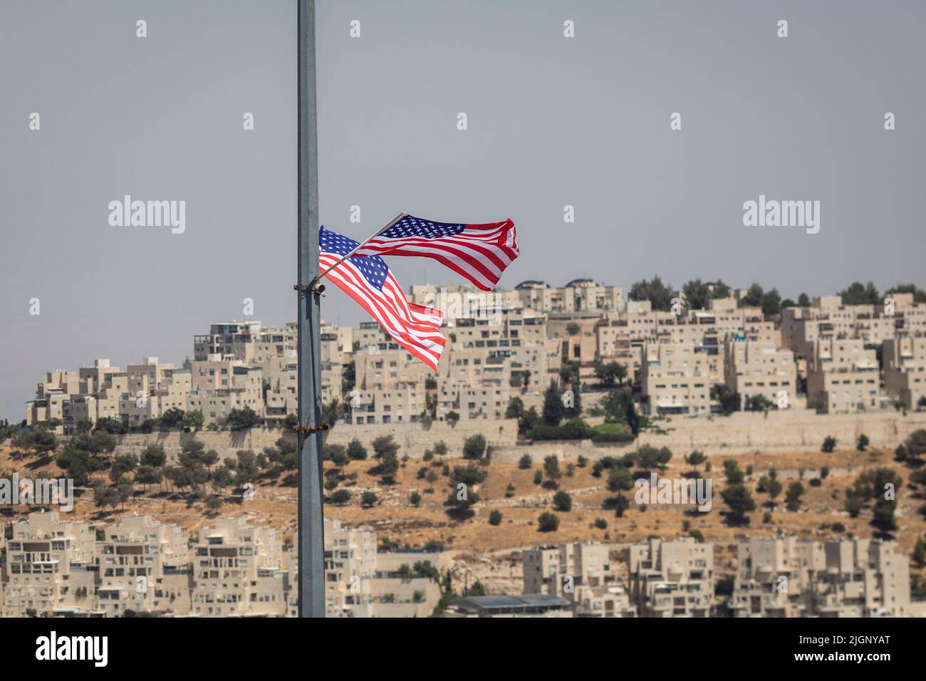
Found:
[[[319,230],[319,271],[329,270],[357,247],[357,242],[322,227]],[[379,256],[345,259],[325,275],[354,298],[385,332],[435,371],[444,350],[440,310],[409,303],[389,266]]]

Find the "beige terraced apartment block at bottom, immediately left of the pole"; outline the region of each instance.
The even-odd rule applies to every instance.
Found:
[[[220,518],[199,531],[193,550],[193,607],[200,617],[283,616],[289,574],[280,534]]]

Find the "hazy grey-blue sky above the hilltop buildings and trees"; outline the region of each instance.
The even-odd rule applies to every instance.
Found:
[[[294,0],[0,4],[0,416],[22,419],[54,368],[179,364],[244,297],[295,319],[295,17]],[[335,231],[511,218],[504,287],[926,280],[921,2],[319,0],[317,19]],[[126,194],[186,201],[185,232],[110,226]],[[819,200],[820,233],[746,228],[760,194]],[[406,286],[462,281],[389,263]],[[326,320],[364,319],[329,290]]]

